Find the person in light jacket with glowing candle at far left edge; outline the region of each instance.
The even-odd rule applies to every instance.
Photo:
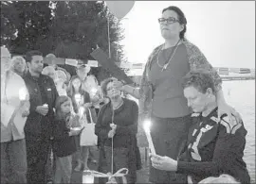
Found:
[[[28,92],[23,78],[9,63],[9,51],[1,47],[1,183],[26,183]]]

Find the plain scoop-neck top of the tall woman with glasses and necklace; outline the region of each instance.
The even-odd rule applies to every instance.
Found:
[[[184,44],[178,45],[174,58],[166,70],[163,66],[171,58],[174,47],[163,49],[155,57],[149,71],[149,81],[153,86],[152,112],[156,117],[176,118],[191,113],[187,99],[183,95],[182,77],[190,72],[189,58]],[[158,59],[158,60],[157,60]]]

